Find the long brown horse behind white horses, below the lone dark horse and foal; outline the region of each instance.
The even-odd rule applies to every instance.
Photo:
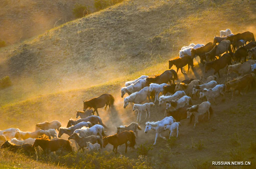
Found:
[[[68,125],[67,125],[67,128],[68,127],[71,127],[71,126],[75,126],[76,124],[82,122],[82,121],[85,121],[85,122],[91,122],[92,125],[94,126],[95,124],[100,124],[101,126],[105,127],[105,128],[108,128],[107,126],[105,126],[103,123],[102,123],[102,120],[100,119],[99,116],[89,116],[89,117],[86,117],[84,119],[78,119],[78,120],[73,120],[73,119],[69,119],[68,120]]]

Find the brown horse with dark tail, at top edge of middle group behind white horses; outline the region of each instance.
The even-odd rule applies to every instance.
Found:
[[[163,84],[168,83],[172,84],[172,81],[174,83],[174,80],[178,80],[178,75],[175,72],[175,70],[166,70],[164,73],[156,76],[156,77],[148,77],[146,79],[146,86],[149,86],[150,83],[156,83],[156,84]]]

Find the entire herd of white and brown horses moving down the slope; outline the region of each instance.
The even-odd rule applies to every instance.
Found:
[[[193,59],[195,58],[197,61],[197,56],[205,67],[205,73],[211,69],[214,69],[214,73],[207,78],[201,76],[200,79],[186,79],[178,82],[179,69],[181,73],[184,73],[183,67],[188,65],[188,71],[190,67],[193,70]],[[247,57],[249,60],[246,60]],[[244,61],[240,63],[242,58]],[[194,127],[196,127],[200,116],[207,115],[210,119],[213,113],[212,104],[218,104],[216,99],[219,97],[224,99],[226,92],[233,92],[232,100],[236,90],[240,94],[241,90],[248,91],[252,85],[255,85],[256,78],[253,73],[256,70],[255,59],[256,42],[251,32],[232,34],[230,29],[220,31],[220,36],[215,36],[213,42],[206,45],[191,43],[182,47],[180,56],[168,61],[169,69],[175,65],[176,71],[166,70],[155,77],[142,75],[133,81],[125,82],[125,86],[121,88],[121,97],[123,98],[126,93],[128,96],[124,98],[123,107],[126,108],[133,104],[133,111],[138,113],[137,121],[140,122],[143,112],[146,111],[145,119],[149,119],[152,107],[166,105],[162,114],[164,119],[146,122],[145,133],[151,129],[156,132],[154,142],[156,145],[158,135],[166,140],[162,136],[165,130],[170,131],[169,138],[173,131],[176,131],[176,137],[178,137],[182,119],[190,119],[191,122],[194,118]],[[219,71],[226,66],[228,69],[227,81],[225,84],[219,84],[215,74],[218,73],[220,77]],[[237,74],[237,78],[230,77],[232,72]],[[201,99],[202,103],[193,105],[193,100],[196,98]],[[23,132],[17,128],[2,130],[0,131],[1,148],[24,150],[29,153],[36,153],[37,146],[47,152],[60,149],[72,151],[69,140],[73,139],[76,146],[79,147],[78,150],[84,150],[84,147],[87,147],[90,151],[99,151],[110,143],[115,152],[119,145],[125,144],[125,152],[127,152],[128,146],[134,148],[138,136],[137,130],[142,129],[138,123],[132,122],[128,126],[118,126],[116,134],[106,136],[104,128],[108,127],[99,117],[98,108],[105,106],[105,110],[107,107],[110,109],[111,106],[114,106],[114,101],[114,97],[106,93],[84,101],[83,111],[76,112],[76,118],[80,116],[80,119],[69,119],[67,127],[61,127],[61,123],[54,120],[36,124],[34,132]],[[98,116],[95,116],[95,111]],[[59,138],[57,138],[56,130],[59,132]],[[68,140],[60,138],[63,134],[69,136]]]

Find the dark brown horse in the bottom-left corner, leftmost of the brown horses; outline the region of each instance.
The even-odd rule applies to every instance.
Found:
[[[26,143],[19,146],[19,145],[8,142],[8,140],[6,140],[4,144],[1,145],[1,148],[9,148],[10,150],[14,150],[14,151],[24,150],[25,152],[28,152],[28,153],[36,153],[36,150],[32,147],[31,144]]]

